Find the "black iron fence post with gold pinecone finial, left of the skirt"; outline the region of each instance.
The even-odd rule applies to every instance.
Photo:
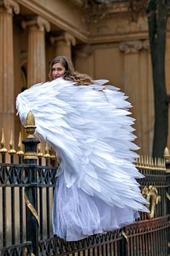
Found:
[[[24,190],[24,200],[26,202],[26,230],[27,241],[32,242],[32,254],[38,256],[38,215],[37,215],[37,140],[34,136],[35,119],[30,111],[26,119],[26,127],[24,127],[28,136],[22,140],[24,144],[24,163],[29,168],[28,187]]]

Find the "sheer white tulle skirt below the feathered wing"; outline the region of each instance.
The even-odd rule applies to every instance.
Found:
[[[139,218],[138,211],[107,205],[73,184],[66,187],[64,174],[58,176],[53,199],[53,233],[66,241],[120,229]]]

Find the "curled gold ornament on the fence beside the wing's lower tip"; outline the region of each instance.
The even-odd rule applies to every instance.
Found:
[[[143,197],[150,202],[150,205],[146,205],[146,207],[150,210],[150,213],[147,213],[148,218],[153,218],[156,211],[156,205],[158,202],[161,202],[161,197],[158,195],[158,190],[156,187],[149,186],[144,187],[142,191]]]

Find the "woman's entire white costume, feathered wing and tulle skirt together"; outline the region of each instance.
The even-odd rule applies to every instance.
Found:
[[[53,232],[67,241],[119,229],[148,211],[134,166],[134,119],[118,88],[74,85],[63,78],[33,85],[17,96],[22,124],[31,110],[36,135],[55,149],[58,168]]]

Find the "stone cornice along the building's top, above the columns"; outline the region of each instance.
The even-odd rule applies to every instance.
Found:
[[[137,22],[132,22],[128,14],[128,4],[125,2],[112,4],[112,8],[99,7],[101,13],[104,12],[102,8],[107,8],[107,12],[104,12],[104,16],[97,17],[100,13],[98,12],[95,16],[95,19],[98,19],[97,22],[91,16],[91,23],[88,23],[86,21],[87,10],[85,7],[79,8],[83,1],[77,0],[79,7],[75,9],[73,9],[72,0],[48,1],[50,4],[48,2],[45,6],[40,0],[17,0],[25,8],[33,10],[35,14],[40,15],[83,43],[111,43],[148,38],[147,18],[140,17]],[[50,8],[47,8],[49,5]]]

